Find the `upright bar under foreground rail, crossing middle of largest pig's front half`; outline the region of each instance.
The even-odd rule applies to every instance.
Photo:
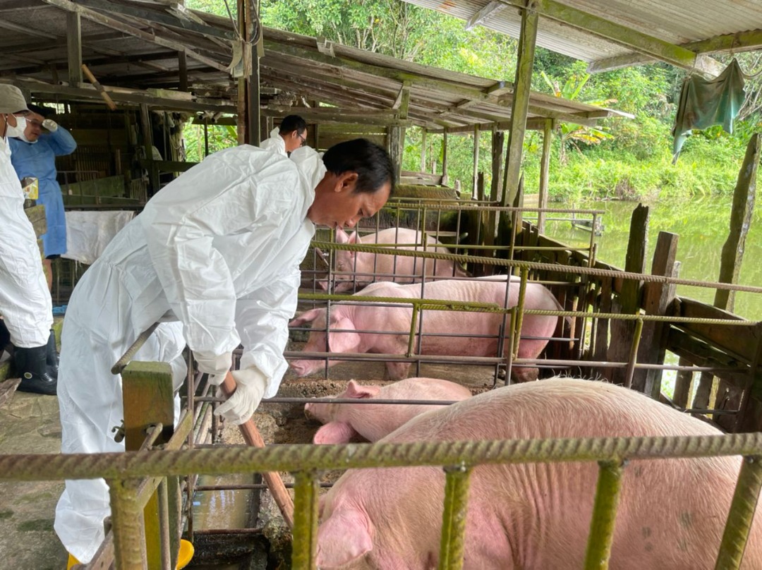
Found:
[[[471,468],[461,464],[444,468],[444,512],[440,541],[439,570],[463,568],[463,546],[466,542]]]

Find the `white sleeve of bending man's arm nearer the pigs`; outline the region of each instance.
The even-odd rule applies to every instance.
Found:
[[[265,398],[277,393],[288,368],[283,350],[300,281],[299,267],[293,267],[289,274],[239,299],[236,305],[235,322],[243,344],[241,368],[254,365],[267,376]]]

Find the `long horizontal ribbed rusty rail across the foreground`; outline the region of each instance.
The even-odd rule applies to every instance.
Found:
[[[405,444],[220,447],[219,449],[0,455],[0,481],[126,479],[363,467],[443,466],[629,458],[762,455],[762,433],[681,437],[417,441]]]

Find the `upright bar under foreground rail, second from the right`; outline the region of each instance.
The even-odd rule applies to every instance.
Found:
[[[614,538],[616,508],[622,488],[621,461],[600,461],[595,504],[588,535],[588,549],[584,556],[584,570],[607,570]]]

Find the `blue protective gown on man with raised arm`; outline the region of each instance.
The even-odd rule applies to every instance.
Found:
[[[69,155],[77,143],[59,125],[55,133],[43,133],[37,142],[8,139],[11,146],[11,163],[18,178],[34,176],[40,184],[37,203],[45,207],[47,232],[42,236],[45,257],[66,253],[66,216],[63,212],[61,187],[56,181],[56,156]]]

